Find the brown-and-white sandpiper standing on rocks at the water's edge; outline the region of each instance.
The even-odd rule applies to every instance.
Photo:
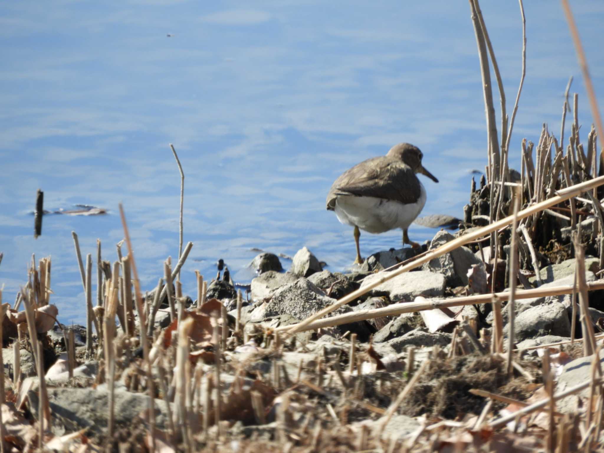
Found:
[[[346,170],[327,194],[327,209],[338,220],[354,226],[355,264],[361,264],[359,228],[369,233],[403,229],[403,243],[413,248],[407,230],[426,204],[426,190],[416,173],[439,182],[422,166],[422,152],[409,143],[399,143],[387,155],[374,157]]]

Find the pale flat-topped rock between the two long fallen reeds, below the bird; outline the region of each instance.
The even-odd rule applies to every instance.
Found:
[[[381,279],[384,275],[365,277],[361,288]],[[445,294],[445,276],[429,271],[405,272],[371,289],[371,296],[387,296],[391,301],[412,301],[417,296],[442,297]]]

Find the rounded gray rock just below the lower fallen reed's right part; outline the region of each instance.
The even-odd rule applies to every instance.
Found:
[[[544,335],[570,336],[567,310],[559,302],[530,307],[516,316],[516,342]]]

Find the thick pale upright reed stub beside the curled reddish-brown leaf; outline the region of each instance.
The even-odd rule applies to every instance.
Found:
[[[187,414],[187,387],[190,381],[187,379],[187,365],[189,355],[189,338],[193,329],[193,318],[188,318],[178,324],[178,347],[176,348],[176,402],[178,410],[176,420],[179,429],[182,432],[182,440],[187,446],[187,451],[191,451],[190,435],[188,433],[188,414]]]

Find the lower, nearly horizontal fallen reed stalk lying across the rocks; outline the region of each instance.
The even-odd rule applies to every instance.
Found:
[[[604,281],[591,281],[586,284],[588,291],[604,289]],[[553,286],[550,288],[535,288],[535,289],[520,289],[516,291],[516,300],[529,299],[533,297],[556,296],[562,294],[571,294],[574,291],[572,284],[564,286]],[[504,301],[509,298],[509,292],[498,292],[494,296]],[[371,320],[381,316],[402,315],[402,313],[421,312],[423,310],[433,310],[445,307],[460,307],[464,305],[485,304],[492,301],[493,294],[478,294],[472,296],[457,297],[451,299],[428,300],[420,302],[403,302],[391,304],[387,307],[381,307],[371,310],[359,310],[354,313],[346,313],[344,315],[336,315],[323,320],[312,321],[302,327],[300,324],[292,324],[285,327],[277,327],[277,331],[281,332],[292,327],[298,327],[300,330],[296,332],[304,332],[306,330],[322,329],[324,327],[341,326],[342,324],[354,323],[356,321]]]

